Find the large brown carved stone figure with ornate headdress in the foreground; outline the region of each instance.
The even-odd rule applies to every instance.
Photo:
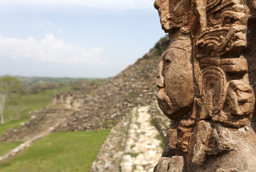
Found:
[[[255,171],[256,1],[154,5],[171,40],[156,96],[172,119],[154,171]]]

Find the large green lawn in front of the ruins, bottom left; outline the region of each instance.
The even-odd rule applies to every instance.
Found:
[[[0,172],[89,171],[110,130],[58,132],[0,163]]]

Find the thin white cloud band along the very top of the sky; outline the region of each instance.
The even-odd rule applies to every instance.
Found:
[[[152,8],[153,0],[2,0],[6,4],[32,4],[32,5],[70,5],[85,6],[100,9],[130,9],[130,8]]]

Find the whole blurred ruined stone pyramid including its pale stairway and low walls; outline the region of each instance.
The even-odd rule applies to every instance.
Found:
[[[54,95],[50,105],[29,114],[29,122],[2,135],[0,142],[25,143],[0,156],[0,162],[50,132],[112,128],[90,171],[153,171],[161,157],[161,136],[170,124],[155,97],[157,65],[169,42],[161,38],[145,56],[104,83]]]

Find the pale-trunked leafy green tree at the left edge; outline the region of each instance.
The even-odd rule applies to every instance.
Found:
[[[18,92],[21,90],[21,84],[16,77],[3,76],[0,77],[0,115],[1,123],[5,123],[3,111],[5,110],[5,102],[11,92]]]

